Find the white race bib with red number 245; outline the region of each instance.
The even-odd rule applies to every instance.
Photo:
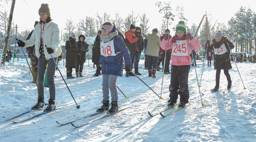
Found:
[[[188,56],[188,45],[187,40],[176,41],[172,45],[172,54],[174,56]]]

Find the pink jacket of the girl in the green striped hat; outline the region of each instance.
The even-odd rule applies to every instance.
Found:
[[[173,36],[172,38],[176,38],[176,36]],[[172,49],[172,38],[167,42],[167,49],[171,48]],[[191,47],[192,50],[197,50],[200,48],[200,42],[196,39],[193,38],[191,41]],[[189,40],[187,39],[187,46],[188,46],[188,56],[172,56],[172,65],[176,65],[176,66],[181,66],[181,65],[191,65],[191,57],[189,56],[191,54],[191,48],[190,48],[190,44],[189,44]],[[161,42],[161,47],[166,47],[166,40],[162,40]],[[173,49],[172,49],[173,51]]]

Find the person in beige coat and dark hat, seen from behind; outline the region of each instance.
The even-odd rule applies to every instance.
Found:
[[[146,55],[148,58],[148,77],[156,78],[156,69],[158,62],[158,51],[161,47],[160,37],[157,35],[157,28],[152,30],[152,34],[143,34],[143,36],[148,40]]]

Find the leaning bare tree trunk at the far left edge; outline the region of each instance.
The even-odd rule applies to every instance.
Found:
[[[13,11],[14,11],[14,5],[15,5],[15,1],[16,0],[12,0],[12,6],[11,6],[11,11],[10,11],[10,15],[9,15],[9,21],[8,21],[8,27],[7,27],[7,32],[5,34],[5,46],[4,46],[4,51],[2,53],[2,59],[1,59],[1,64],[4,65],[5,63],[5,53],[7,51],[7,45],[8,45],[8,39],[9,39],[9,33],[10,33],[10,30],[11,30],[11,27],[12,27],[12,16],[13,16]],[[7,1],[6,1],[7,2]]]

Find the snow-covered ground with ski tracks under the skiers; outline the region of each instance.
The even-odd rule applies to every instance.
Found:
[[[235,64],[229,70],[233,88],[226,92],[227,80],[223,73],[220,74],[220,92],[210,93],[215,86],[215,72],[213,67],[204,67],[200,90],[202,107],[197,86],[196,72],[200,82],[203,62],[197,62],[195,68],[191,67],[189,73],[190,100],[195,103],[181,109],[173,115],[154,117],[150,112],[158,112],[167,106],[169,98],[170,75],[164,75],[162,97],[150,90],[136,77],[118,77],[119,106],[133,105],[112,116],[89,123],[80,128],[71,124],[60,125],[68,120],[82,118],[93,114],[102,104],[101,83],[102,77],[93,77],[96,68],[91,60],[84,64],[84,77],[66,79],[66,68],[60,61],[60,71],[68,84],[80,108],[70,95],[59,71],[56,71],[56,106],[55,110],[42,116],[35,117],[22,123],[13,123],[29,116],[41,113],[43,108],[31,111],[28,114],[8,120],[12,117],[30,110],[37,101],[36,84],[32,83],[32,75],[26,60],[6,63],[0,69],[0,141],[1,142],[255,142],[256,141],[256,64],[237,64],[243,79],[240,79]],[[143,69],[144,60],[140,61],[142,67],[139,77],[150,86],[159,96],[161,93],[163,72],[156,73],[156,78],[149,78],[148,71]],[[49,99],[49,88],[44,89],[45,100]],[[223,93],[225,92],[225,93]],[[178,99],[179,101],[179,99]],[[44,107],[45,108],[45,107]],[[121,107],[122,108],[122,107]],[[171,112],[174,108],[167,110]],[[104,115],[87,117],[74,124],[82,124]]]

